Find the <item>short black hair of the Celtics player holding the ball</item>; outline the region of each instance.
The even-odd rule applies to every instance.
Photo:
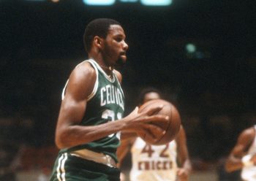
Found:
[[[86,52],[89,52],[91,50],[91,42],[94,39],[94,36],[99,36],[101,38],[107,37],[111,25],[121,26],[121,23],[109,18],[98,18],[92,20],[86,26],[83,34],[83,45],[86,49]]]

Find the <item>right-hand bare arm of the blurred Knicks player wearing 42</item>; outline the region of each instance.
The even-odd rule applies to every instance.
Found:
[[[187,150],[187,136],[183,126],[176,137],[177,150],[178,150],[178,162],[180,168],[178,169],[177,175],[179,180],[187,181],[189,178],[189,172],[192,170],[191,162],[189,160],[189,152]]]

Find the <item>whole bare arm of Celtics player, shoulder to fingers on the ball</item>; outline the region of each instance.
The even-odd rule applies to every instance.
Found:
[[[87,98],[94,88],[95,80],[96,73],[89,63],[81,63],[70,75],[56,128],[56,145],[59,148],[91,142],[121,130],[143,130],[152,137],[154,134],[163,134],[161,128],[148,124],[151,121],[167,119],[153,115],[153,112],[162,109],[160,106],[141,113],[135,109],[126,118],[121,119],[122,121],[110,121],[98,126],[79,126],[86,113]],[[154,133],[151,130],[154,130]]]

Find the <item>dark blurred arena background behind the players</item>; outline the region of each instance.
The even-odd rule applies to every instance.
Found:
[[[127,112],[141,88],[159,88],[180,110],[192,158],[216,161],[241,130],[256,123],[255,5],[0,1],[1,139],[54,144],[61,90],[75,65],[87,58],[84,28],[94,18],[114,18],[129,44],[127,64],[120,69]],[[187,43],[197,51],[187,53]]]

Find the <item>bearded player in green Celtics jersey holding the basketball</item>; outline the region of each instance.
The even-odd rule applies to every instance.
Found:
[[[62,93],[55,139],[61,150],[50,180],[119,180],[118,133],[142,131],[152,139],[164,134],[148,124],[168,119],[153,115],[161,105],[142,113],[135,108],[122,118],[124,93],[115,68],[127,60],[125,37],[116,20],[99,18],[86,27],[83,41],[89,59],[75,67]]]

